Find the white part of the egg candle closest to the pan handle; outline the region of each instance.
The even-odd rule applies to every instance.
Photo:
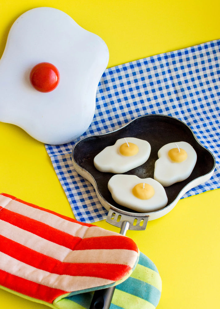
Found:
[[[140,183],[149,184],[154,188],[153,197],[142,200],[133,195],[132,189]],[[152,178],[141,179],[135,175],[114,175],[108,182],[108,189],[116,203],[141,213],[159,210],[168,201],[163,186]]]

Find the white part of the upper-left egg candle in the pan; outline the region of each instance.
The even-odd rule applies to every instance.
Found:
[[[95,156],[94,165],[97,170],[101,172],[121,174],[132,168],[138,167],[147,161],[151,150],[149,142],[132,137],[126,137],[126,141],[137,145],[139,149],[138,153],[132,156],[122,155],[119,149],[120,146],[125,143],[125,140],[124,138],[120,138],[114,145],[104,148]]]

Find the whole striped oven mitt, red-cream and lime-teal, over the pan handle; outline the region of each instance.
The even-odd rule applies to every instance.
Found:
[[[159,302],[157,268],[132,239],[0,194],[2,289],[54,309],[83,309],[94,290],[114,285],[111,309]]]

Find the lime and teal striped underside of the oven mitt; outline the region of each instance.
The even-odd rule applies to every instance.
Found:
[[[116,286],[110,309],[155,309],[161,297],[162,282],[153,262],[140,253],[132,275]],[[91,293],[60,299],[54,305],[59,309],[88,309]]]

